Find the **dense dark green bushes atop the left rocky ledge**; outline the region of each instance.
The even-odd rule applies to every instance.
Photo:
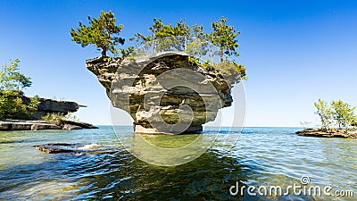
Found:
[[[0,91],[0,119],[28,120],[37,110],[38,96],[32,97],[29,104],[22,103],[23,93],[18,90]]]

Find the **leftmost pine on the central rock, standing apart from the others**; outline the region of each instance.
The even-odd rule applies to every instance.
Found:
[[[124,45],[124,38],[120,38],[119,34],[123,25],[117,26],[115,24],[114,14],[109,11],[107,13],[101,11],[98,19],[90,18],[88,16],[89,25],[83,25],[79,22],[77,30],[71,29],[72,41],[85,47],[89,44],[94,45],[98,50],[102,50],[102,56],[106,56],[107,50],[112,54],[117,53],[115,46],[118,44]]]

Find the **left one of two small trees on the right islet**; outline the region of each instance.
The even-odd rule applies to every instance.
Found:
[[[328,103],[326,101],[323,101],[319,98],[317,102],[314,103],[317,111],[316,114],[319,115],[320,121],[321,121],[321,126],[323,131],[328,131],[330,128],[330,125],[333,122],[332,118],[332,110],[329,107]]]

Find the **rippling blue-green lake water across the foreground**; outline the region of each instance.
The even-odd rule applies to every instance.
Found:
[[[0,132],[0,200],[357,200],[357,140],[308,138],[299,128],[245,128],[234,147],[218,138],[194,161],[161,167],[138,160],[120,145],[110,126],[99,130]],[[120,133],[132,138],[131,127]],[[205,135],[214,133],[208,128]],[[220,135],[227,134],[221,130]],[[230,132],[232,140],[237,132]],[[219,135],[219,136],[220,136]],[[197,136],[161,136],[167,147]],[[229,137],[230,138],[230,137]],[[101,151],[45,154],[34,145],[93,143]],[[229,143],[228,143],[229,142]],[[251,195],[248,187],[283,189],[308,176],[310,186],[353,190],[354,197]],[[242,195],[229,193],[234,185]],[[307,185],[306,187],[308,187]]]

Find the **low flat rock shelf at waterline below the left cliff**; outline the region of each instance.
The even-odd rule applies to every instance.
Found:
[[[0,130],[81,130],[98,129],[92,124],[63,120],[63,125],[58,126],[47,121],[26,121],[26,120],[0,120]]]

